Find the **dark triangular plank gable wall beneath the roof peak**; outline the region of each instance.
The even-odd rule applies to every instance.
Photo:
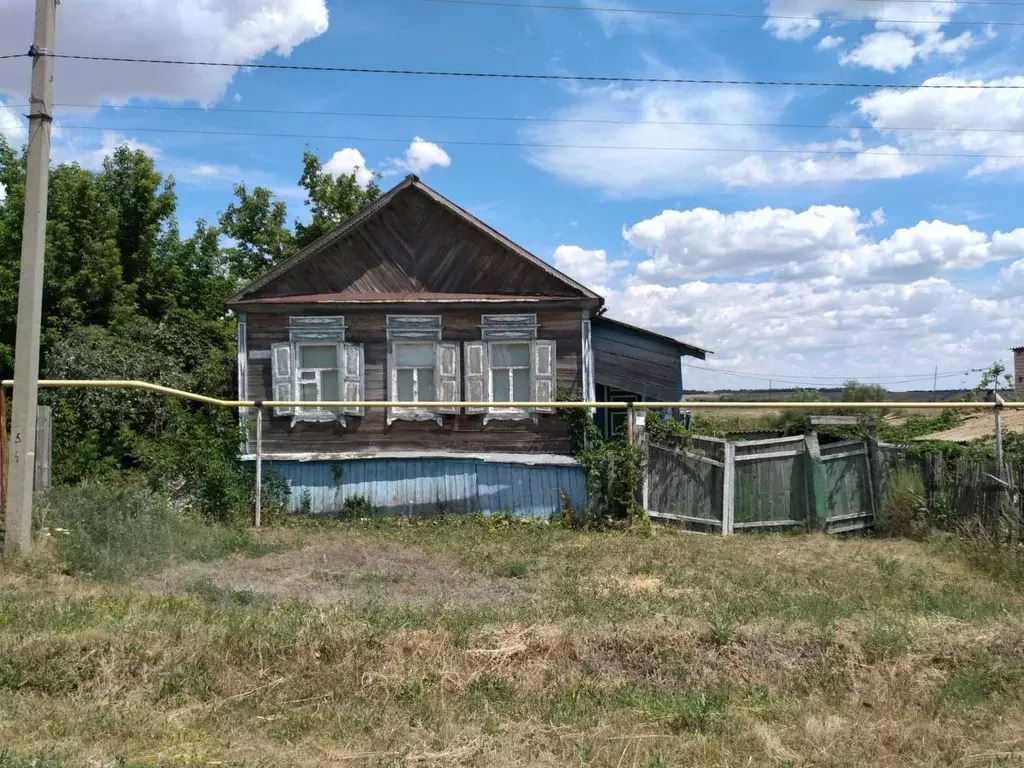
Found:
[[[505,294],[580,298],[419,189],[397,195],[346,237],[246,297],[324,293]]]

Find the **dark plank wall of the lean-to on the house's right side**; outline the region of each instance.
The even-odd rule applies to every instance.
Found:
[[[675,401],[682,396],[678,346],[599,322],[592,333],[598,385],[635,392],[646,400]]]

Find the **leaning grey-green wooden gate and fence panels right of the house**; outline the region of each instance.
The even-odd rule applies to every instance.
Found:
[[[873,524],[881,451],[869,441],[819,445],[817,435],[729,442],[694,437],[647,446],[645,508],[696,530],[817,528],[841,534]]]

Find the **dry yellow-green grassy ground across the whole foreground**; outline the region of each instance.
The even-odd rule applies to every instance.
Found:
[[[263,537],[130,582],[0,570],[0,767],[1024,765],[1024,592],[950,546]]]

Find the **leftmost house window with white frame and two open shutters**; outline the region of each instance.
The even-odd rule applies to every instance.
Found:
[[[342,409],[325,402],[359,402],[364,397],[364,352],[361,344],[345,341],[344,317],[291,317],[289,341],[270,347],[273,400],[317,403],[279,406],[275,416],[299,421],[338,421],[361,416],[362,408]]]

